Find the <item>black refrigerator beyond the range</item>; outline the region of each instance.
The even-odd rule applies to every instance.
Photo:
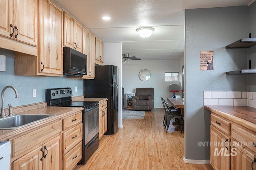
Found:
[[[83,81],[85,98],[108,98],[108,130],[104,135],[118,131],[118,67],[95,66],[95,78]]]

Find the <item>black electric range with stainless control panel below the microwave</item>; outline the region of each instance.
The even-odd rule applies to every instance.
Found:
[[[83,107],[83,149],[78,164],[85,164],[99,146],[99,102],[72,101],[71,88],[53,88],[46,90],[47,106]],[[75,158],[75,157],[74,157]]]

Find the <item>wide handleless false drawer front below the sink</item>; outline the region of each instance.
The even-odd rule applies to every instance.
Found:
[[[45,141],[48,141],[51,137],[59,135],[61,132],[61,121],[54,122],[52,124],[43,126],[40,129],[22,135],[12,140],[12,153],[13,157],[19,154],[26,154],[29,148],[42,145]]]

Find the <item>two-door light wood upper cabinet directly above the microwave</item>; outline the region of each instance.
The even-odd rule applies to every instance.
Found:
[[[83,52],[83,27],[72,16],[64,12],[64,43],[66,47]]]

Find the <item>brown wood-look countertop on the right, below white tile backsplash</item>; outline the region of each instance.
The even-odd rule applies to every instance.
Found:
[[[249,106],[204,106],[234,123],[244,125],[256,131],[256,108]]]

